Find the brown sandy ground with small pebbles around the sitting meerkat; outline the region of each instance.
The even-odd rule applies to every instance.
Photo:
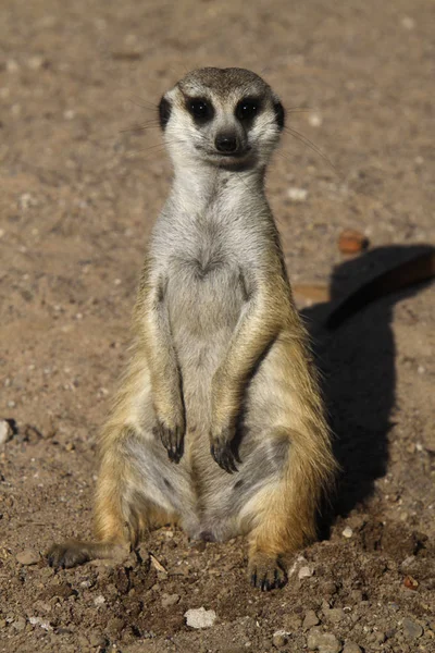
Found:
[[[344,473],[325,539],[285,589],[250,588],[244,541],[192,546],[170,529],[122,564],[54,572],[40,556],[90,534],[95,438],[171,181],[161,94],[191,67],[239,65],[308,109],[289,125],[338,173],[287,134],[269,196],[291,280],[338,297],[435,242],[434,3],[3,0],[0,16],[0,417],[14,420],[0,651],[434,652],[431,285],[332,335],[328,306],[301,306]],[[345,227],[369,236],[366,255],[339,254]],[[184,615],[202,606],[216,620],[198,631]]]

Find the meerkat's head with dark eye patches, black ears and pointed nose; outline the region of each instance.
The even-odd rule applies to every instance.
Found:
[[[160,125],[175,165],[263,168],[284,127],[271,87],[244,69],[188,73],[159,104]]]

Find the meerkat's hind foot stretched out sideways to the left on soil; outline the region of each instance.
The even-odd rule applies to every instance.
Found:
[[[66,540],[62,544],[53,544],[46,554],[50,567],[69,569],[83,565],[91,559],[112,557],[121,549],[113,543],[80,542]]]

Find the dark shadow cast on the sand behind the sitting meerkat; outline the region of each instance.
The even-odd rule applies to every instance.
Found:
[[[331,301],[301,311],[312,333],[335,434],[334,453],[341,467],[332,514],[326,510],[322,519],[324,535],[335,517],[348,515],[372,496],[375,480],[387,471],[388,432],[396,405],[393,310],[405,297],[417,294],[422,284],[366,305],[334,331],[328,332],[325,323],[344,297],[374,276],[434,251],[430,246],[387,246],[347,260],[333,270]],[[418,323],[417,318],[410,319]]]

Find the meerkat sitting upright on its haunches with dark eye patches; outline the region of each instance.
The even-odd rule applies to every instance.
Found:
[[[206,67],[162,97],[159,116],[174,177],[100,438],[96,542],[55,544],[48,560],[111,556],[175,522],[191,539],[248,535],[251,583],[270,590],[315,539],[336,469],[264,192],[285,111],[257,74]]]

